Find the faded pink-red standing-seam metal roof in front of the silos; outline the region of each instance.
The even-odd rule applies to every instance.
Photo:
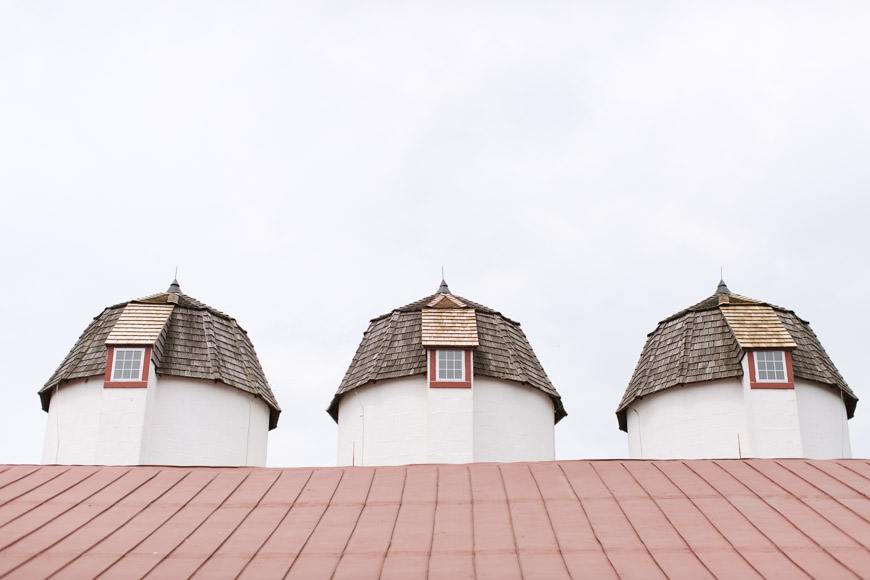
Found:
[[[0,466],[0,578],[870,578],[866,460]]]

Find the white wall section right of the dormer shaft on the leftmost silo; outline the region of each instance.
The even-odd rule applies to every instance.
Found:
[[[266,465],[269,407],[223,383],[162,376],[145,464]]]

